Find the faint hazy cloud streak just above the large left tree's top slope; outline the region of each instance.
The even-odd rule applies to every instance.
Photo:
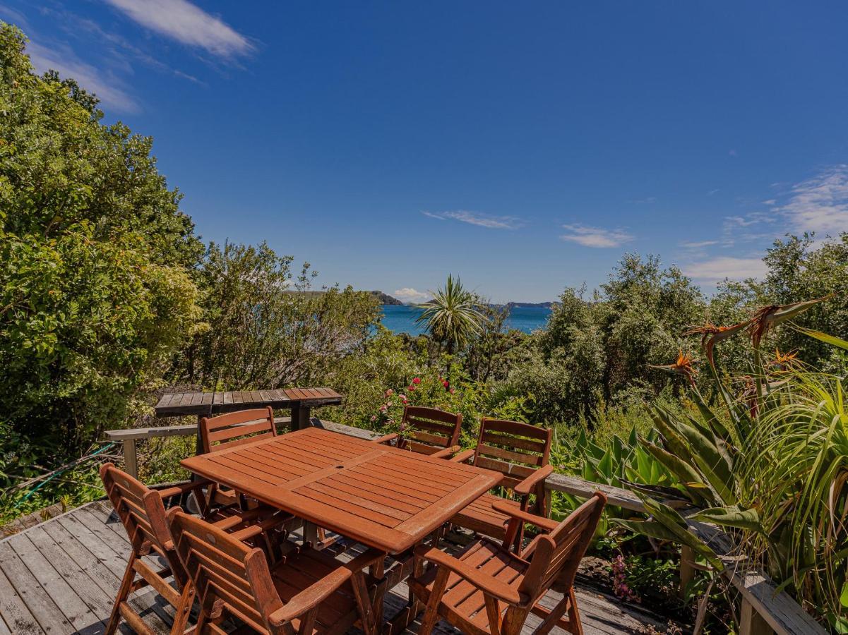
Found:
[[[70,77],[86,89],[97,95],[100,101],[122,113],[137,113],[141,110],[136,100],[127,92],[123,83],[107,70],[97,69],[86,64],[67,46],[56,49],[47,48],[38,42],[26,46],[36,70],[56,70],[62,77]]]

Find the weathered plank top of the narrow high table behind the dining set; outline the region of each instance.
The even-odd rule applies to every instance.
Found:
[[[271,406],[274,409],[315,408],[342,403],[332,388],[238,390],[227,393],[169,393],[156,404],[156,416],[209,415]]]

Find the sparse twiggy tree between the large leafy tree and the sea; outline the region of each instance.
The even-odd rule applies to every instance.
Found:
[[[350,287],[312,291],[310,266],[295,277],[292,260],[265,243],[209,245],[198,280],[210,327],[177,376],[234,390],[309,385],[361,349],[377,323],[377,298]]]

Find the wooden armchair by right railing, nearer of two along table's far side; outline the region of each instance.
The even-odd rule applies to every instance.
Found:
[[[551,431],[545,428],[483,417],[477,448],[457,454],[452,460],[462,462],[471,459],[471,465],[501,472],[504,475],[501,487],[511,490],[518,500],[502,499],[492,493],[485,493],[450,522],[495,540],[502,540],[510,516],[499,509],[514,507],[516,510],[547,516],[544,479],[553,471],[548,464],[550,440]],[[530,503],[531,494],[535,495],[533,504]],[[494,508],[493,504],[499,501],[502,505]],[[519,532],[516,540],[520,542],[522,535]]]

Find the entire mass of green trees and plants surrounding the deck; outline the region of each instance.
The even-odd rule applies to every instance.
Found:
[[[733,627],[724,563],[659,502],[672,497],[848,631],[848,233],[778,240],[765,276],[710,297],[626,254],[531,334],[449,276],[422,315],[429,335],[394,334],[372,292],[315,289],[310,265],[264,243],[204,244],[152,139],[104,125],[74,81],[36,75],[10,25],[0,64],[2,520],[100,495],[92,464],[19,486],[114,453],[103,430],[145,424],[166,390],[326,385],[346,399],[321,416],[380,432],[405,404],[460,412],[465,444],[483,415],[553,427],[558,470],[633,487],[653,512],[611,508],[601,524],[595,549],[623,598],[669,586],[683,542],[706,571],[678,610]],[[192,443],[149,443],[143,476],[180,476]],[[558,496],[555,514],[574,503]]]

